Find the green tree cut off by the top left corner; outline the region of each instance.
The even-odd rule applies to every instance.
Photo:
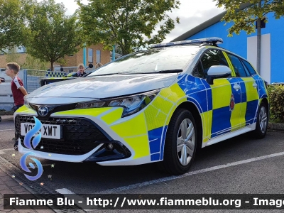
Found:
[[[21,0],[0,0],[0,52],[15,45],[22,45],[26,28],[25,2]]]

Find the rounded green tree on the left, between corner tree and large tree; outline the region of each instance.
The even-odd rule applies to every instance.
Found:
[[[35,4],[33,16],[29,17],[30,36],[26,43],[28,54],[40,61],[53,63],[65,55],[76,53],[82,45],[82,31],[77,15],[65,15],[63,4],[43,0]]]

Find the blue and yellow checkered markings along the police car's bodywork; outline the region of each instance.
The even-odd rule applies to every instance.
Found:
[[[249,91],[249,92],[248,92]],[[170,119],[183,102],[191,102],[200,112],[202,142],[236,131],[256,122],[256,109],[261,99],[268,98],[266,86],[258,75],[206,80],[179,74],[178,81],[160,89],[153,99],[146,100],[144,109],[121,118],[122,107],[74,109],[60,111],[55,116],[91,116],[104,122],[111,131],[131,148],[131,158],[146,158],[143,162],[163,160],[165,136]],[[34,114],[22,107],[18,111]]]

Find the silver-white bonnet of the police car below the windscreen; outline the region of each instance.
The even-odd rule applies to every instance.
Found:
[[[33,104],[63,104],[119,97],[169,87],[177,76],[159,73],[80,77],[47,84],[28,94],[27,99]]]

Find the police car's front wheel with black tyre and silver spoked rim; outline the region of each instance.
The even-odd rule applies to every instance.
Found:
[[[187,173],[195,158],[197,128],[195,119],[187,109],[173,114],[165,137],[163,161],[158,168],[173,175]]]

